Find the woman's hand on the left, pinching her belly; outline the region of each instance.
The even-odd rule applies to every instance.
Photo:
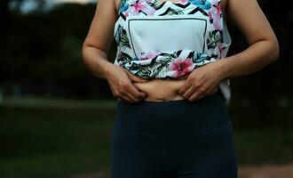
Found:
[[[147,97],[147,93],[140,92],[139,89],[132,84],[132,81],[147,82],[147,80],[134,76],[128,70],[112,64],[105,76],[115,97],[131,103],[138,102]]]

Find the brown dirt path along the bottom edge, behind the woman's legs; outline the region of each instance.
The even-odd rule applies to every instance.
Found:
[[[239,166],[238,178],[293,178],[293,164],[262,166]],[[109,170],[99,174],[81,174],[72,178],[110,178]]]

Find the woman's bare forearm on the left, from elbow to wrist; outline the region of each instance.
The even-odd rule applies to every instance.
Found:
[[[83,46],[83,63],[94,77],[106,79],[107,68],[113,65],[107,60],[107,53],[93,46]]]

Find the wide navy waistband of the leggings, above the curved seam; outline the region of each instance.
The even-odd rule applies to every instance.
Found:
[[[166,137],[200,132],[229,122],[220,93],[200,100],[118,101],[115,127],[146,136]]]

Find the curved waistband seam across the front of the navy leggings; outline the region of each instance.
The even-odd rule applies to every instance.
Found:
[[[121,126],[116,126],[116,127],[119,128],[119,129],[123,129],[123,130],[125,130],[127,132],[131,132],[133,134],[140,134],[140,135],[147,136],[147,137],[166,138],[166,137],[182,136],[182,135],[185,135],[185,134],[201,133],[201,132],[204,132],[204,131],[207,131],[207,130],[210,130],[210,129],[214,129],[214,128],[218,128],[218,127],[221,127],[221,126],[225,126],[229,122],[230,122],[229,117],[226,117],[225,119],[223,119],[223,120],[221,120],[218,123],[213,124],[213,125],[209,125],[209,126],[205,126],[205,127],[202,127],[202,128],[198,128],[198,129],[195,129],[195,130],[192,130],[192,131],[188,131],[188,132],[182,133],[182,134],[170,134],[170,135],[162,135],[162,136],[161,135],[154,135],[154,134],[143,134],[143,133],[139,133],[138,131],[134,131],[134,130],[131,130],[131,129],[128,129],[128,128],[124,128],[124,127],[121,127]]]

